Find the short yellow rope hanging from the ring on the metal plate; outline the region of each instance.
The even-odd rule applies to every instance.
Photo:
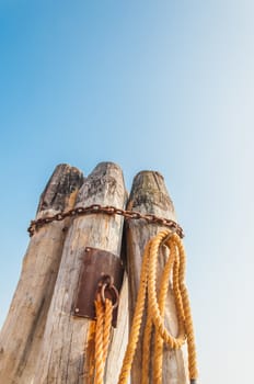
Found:
[[[105,363],[111,339],[113,303],[111,300],[105,298],[105,304],[103,304],[101,295],[99,294],[94,304],[96,313],[94,384],[103,384]]]

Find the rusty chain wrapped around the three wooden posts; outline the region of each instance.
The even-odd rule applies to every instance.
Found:
[[[93,204],[90,206],[78,206],[73,210],[57,213],[56,215],[48,216],[48,217],[42,217],[36,221],[32,221],[31,225],[27,229],[30,233],[30,236],[33,236],[34,233],[43,227],[45,224],[49,224],[51,222],[60,222],[64,221],[66,217],[77,217],[81,215],[88,215],[88,214],[93,214],[93,213],[103,213],[106,215],[120,215],[124,216],[127,221],[128,219],[143,219],[149,224],[158,224],[162,225],[165,227],[169,227],[170,229],[176,231],[176,234],[183,238],[184,237],[184,231],[183,228],[174,221],[170,218],[164,218],[164,217],[158,217],[152,214],[141,214],[136,211],[125,211],[120,208],[116,208],[115,206],[106,205],[102,206],[100,204]]]

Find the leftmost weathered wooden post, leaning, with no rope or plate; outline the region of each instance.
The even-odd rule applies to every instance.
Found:
[[[58,166],[41,196],[36,218],[71,208],[82,182],[83,176],[77,168]],[[50,223],[31,238],[21,279],[0,334],[2,383],[27,384],[34,375],[68,222]]]

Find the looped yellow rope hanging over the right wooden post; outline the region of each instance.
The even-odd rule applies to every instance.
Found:
[[[170,256],[162,273],[158,300],[155,286],[157,262],[159,249],[162,244],[169,248]],[[153,383],[162,383],[163,343],[168,345],[171,349],[180,349],[185,340],[187,340],[188,347],[188,370],[190,383],[194,383],[197,379],[194,329],[188,294],[184,283],[186,264],[185,259],[185,251],[180,237],[169,230],[161,231],[146,246],[140,273],[140,287],[129,335],[129,343],[124,358],[118,384],[126,384],[128,381],[143,317],[146,296],[148,296],[148,315],[143,336],[141,384],[149,383],[152,326],[155,328]],[[164,326],[165,301],[171,274],[173,274],[173,292],[178,319],[177,337],[173,337]]]

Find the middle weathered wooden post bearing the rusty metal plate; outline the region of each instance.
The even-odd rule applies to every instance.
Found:
[[[126,190],[119,167],[100,163],[84,181],[76,206],[91,204],[114,205],[124,208]],[[90,214],[73,219],[68,231],[61,264],[44,335],[44,343],[34,383],[92,383],[94,321],[72,315],[73,301],[85,247],[94,247],[120,255],[123,217]],[[105,383],[115,384],[125,339],[127,338],[127,287],[124,286],[119,318],[109,346]],[[120,348],[123,351],[120,351]]]

